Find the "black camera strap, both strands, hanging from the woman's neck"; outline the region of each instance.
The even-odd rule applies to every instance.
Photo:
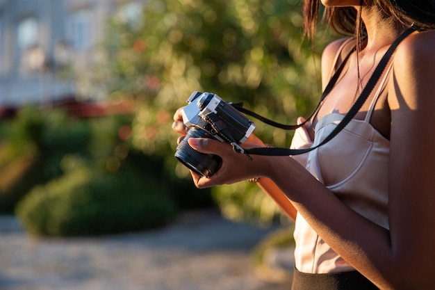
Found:
[[[366,102],[366,99],[372,92],[373,88],[375,88],[379,77],[383,74],[386,65],[388,64],[388,61],[390,61],[391,56],[393,56],[393,53],[397,46],[406,38],[409,34],[411,34],[415,29],[413,27],[407,29],[404,31],[394,42],[393,44],[388,48],[384,56],[381,58],[381,61],[379,61],[379,64],[377,65],[375,71],[373,72],[372,76],[370,76],[370,79],[368,80],[368,83],[363,88],[363,91],[359,95],[358,99],[356,99],[356,102],[350,108],[349,112],[343,117],[343,120],[341,120],[340,123],[337,124],[337,126],[334,128],[333,131],[324,139],[321,143],[314,147],[306,148],[306,149],[289,149],[289,148],[281,148],[281,147],[257,147],[252,149],[245,149],[245,154],[255,154],[255,155],[268,155],[268,156],[288,156],[288,155],[298,155],[298,154],[304,154],[307,152],[310,152],[312,150],[315,150],[316,148],[325,145],[328,143],[332,138],[334,138],[341,130],[343,130],[346,125],[354,118],[356,113],[358,113],[359,109],[363,104]],[[254,113],[252,111],[247,110],[246,108],[243,108],[240,106],[240,104],[232,104],[234,108],[236,108],[238,111],[245,113],[247,115],[250,115],[258,120],[261,120],[261,122],[264,122],[265,124],[270,124],[273,127],[278,127],[281,129],[286,130],[294,130],[301,126],[303,126],[308,120],[311,120],[313,115],[317,113],[317,111],[320,108],[320,105],[322,104],[322,101],[325,99],[325,97],[329,94],[329,92],[332,90],[332,88],[335,86],[338,77],[340,76],[340,73],[343,71],[343,67],[345,66],[345,63],[350,58],[350,55],[355,51],[355,48],[350,51],[349,54],[347,54],[346,58],[341,63],[340,67],[336,70],[335,74],[331,77],[327,87],[325,88],[324,92],[322,93],[322,96],[320,97],[320,101],[318,102],[318,105],[316,106],[315,110],[309,118],[307,118],[302,124],[297,125],[286,125],[286,124],[279,124],[277,122],[274,122],[272,120],[269,120],[267,118],[264,118],[261,115],[258,115],[257,113]]]

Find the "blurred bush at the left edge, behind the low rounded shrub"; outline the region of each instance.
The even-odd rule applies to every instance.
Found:
[[[33,186],[62,175],[64,156],[89,155],[88,124],[60,109],[40,111],[28,106],[1,127],[0,212],[13,212]]]

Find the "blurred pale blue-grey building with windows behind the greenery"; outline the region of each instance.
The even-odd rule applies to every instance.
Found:
[[[0,108],[83,95],[108,17],[137,19],[144,0],[0,0]],[[85,96],[86,97],[86,96]]]

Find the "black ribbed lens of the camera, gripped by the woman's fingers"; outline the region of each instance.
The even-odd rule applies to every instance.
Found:
[[[220,156],[214,154],[197,152],[197,150],[190,147],[188,143],[189,138],[215,138],[213,138],[211,134],[208,134],[207,131],[199,129],[198,127],[191,127],[186,137],[184,137],[177,146],[177,152],[175,152],[174,155],[190,170],[204,177],[210,177],[216,172],[222,159]]]

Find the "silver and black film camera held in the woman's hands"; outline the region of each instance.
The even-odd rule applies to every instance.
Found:
[[[214,154],[197,152],[190,147],[188,139],[211,138],[231,143],[236,152],[243,152],[238,144],[249,138],[255,124],[231,103],[222,101],[211,92],[192,92],[187,103],[182,115],[188,132],[177,146],[174,156],[190,170],[203,177],[210,177],[216,172],[222,159]]]

